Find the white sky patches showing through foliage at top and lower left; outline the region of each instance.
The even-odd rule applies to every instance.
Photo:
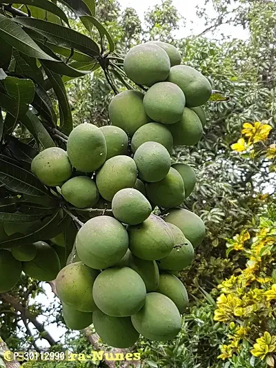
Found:
[[[143,21],[144,12],[146,12],[149,7],[160,4],[161,0],[119,0],[119,3],[121,5],[121,10],[124,10],[128,6],[135,8],[141,21]],[[204,25],[204,19],[197,18],[196,14],[196,6],[204,6],[204,0],[172,0],[172,3],[179,11],[179,14],[181,14],[182,17],[186,18],[185,27],[181,26],[181,23],[179,23],[180,29],[177,31],[176,38],[187,37],[188,35],[192,34],[198,35],[206,28],[206,26]],[[208,14],[210,15],[210,17],[215,16],[215,12],[210,6],[208,7]],[[248,38],[248,32],[246,32],[242,27],[224,25],[215,32],[215,36],[219,37],[221,32],[224,32],[224,35],[230,36],[231,38]],[[206,37],[213,37],[212,33],[206,34]],[[49,284],[46,284],[44,282],[43,288],[46,291],[46,295],[40,295],[36,298],[36,301],[41,302],[41,304],[46,306],[55,301],[55,296],[52,293]],[[48,318],[51,319],[50,316],[39,316],[38,319],[39,322],[46,322]],[[30,324],[30,328],[35,331],[34,327],[32,327],[32,324]],[[62,336],[65,333],[66,329],[62,329],[61,327],[57,328],[57,326],[55,326],[54,324],[51,324],[46,329],[50,332],[52,337],[55,338],[55,340],[59,340],[60,338],[61,340],[63,340]],[[45,340],[39,340],[38,345],[45,348],[49,347],[48,342],[46,342]]]

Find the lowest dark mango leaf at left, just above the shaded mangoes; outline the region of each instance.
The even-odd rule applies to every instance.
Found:
[[[66,229],[70,217],[65,215],[60,220],[59,211],[54,213],[51,217],[41,222],[39,229],[30,230],[32,231],[28,235],[13,234],[8,240],[0,242],[0,249],[10,248],[10,246],[30,244],[33,242],[38,242],[41,239],[50,239],[57,236],[61,231]]]

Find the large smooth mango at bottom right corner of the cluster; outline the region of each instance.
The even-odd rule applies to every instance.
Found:
[[[142,336],[153,341],[171,340],[181,329],[177,306],[160,293],[148,293],[144,307],[131,316],[131,321]]]

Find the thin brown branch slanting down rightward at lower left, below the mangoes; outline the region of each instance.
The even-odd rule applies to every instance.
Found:
[[[25,316],[25,318],[28,318],[28,320],[32,322],[32,325],[34,325],[37,331],[41,333],[41,338],[47,340],[51,346],[57,344],[57,342],[52,338],[50,333],[48,333],[48,331],[44,329],[43,325],[37,320],[37,318],[32,313],[30,313],[28,309],[23,308],[16,298],[10,296],[10,294],[8,293],[1,293],[1,299],[4,302],[9,303],[12,307],[14,307],[14,309],[19,311],[21,313],[21,316]]]

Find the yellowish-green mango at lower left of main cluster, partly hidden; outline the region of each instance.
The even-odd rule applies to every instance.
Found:
[[[98,274],[99,271],[90,269],[83,262],[68,264],[57,275],[57,295],[63,303],[78,311],[95,311],[92,287]]]

